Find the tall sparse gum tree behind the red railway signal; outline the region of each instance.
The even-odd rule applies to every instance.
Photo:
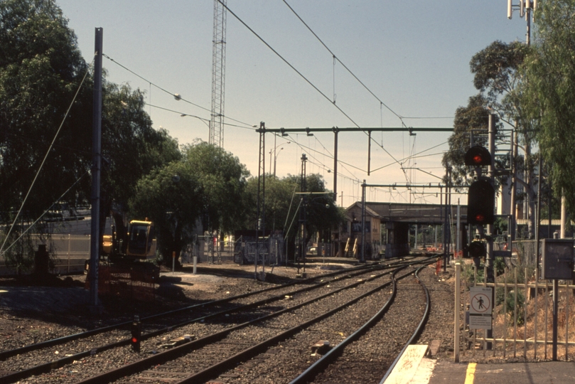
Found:
[[[500,122],[516,125],[518,142],[524,149],[525,155],[518,156],[514,162],[519,165],[517,168],[520,171],[517,174],[520,176],[517,177],[517,181],[522,184],[529,203],[528,236],[531,238],[534,233],[534,203],[537,198],[537,185],[534,178],[535,159],[532,156],[535,139],[534,121],[528,116],[522,101],[522,84],[525,79],[522,64],[528,52],[529,47],[520,42],[494,41],[473,55],[470,62],[471,73],[474,75],[473,85],[480,93],[470,98],[468,107],[458,108],[454,122],[455,132],[449,139],[450,149],[444,156],[443,162],[453,174],[453,183],[461,185],[468,178],[467,169],[463,166],[463,154],[469,143],[466,139],[466,135],[469,134],[468,130],[484,127],[487,133],[488,110],[496,113],[495,121],[498,124],[498,131],[502,128]],[[466,129],[466,124],[468,129]],[[498,144],[501,144],[503,139],[505,139],[503,135],[498,134]],[[503,158],[495,158],[496,163],[507,167],[508,164],[505,161],[506,159]],[[503,178],[500,178],[501,181]]]

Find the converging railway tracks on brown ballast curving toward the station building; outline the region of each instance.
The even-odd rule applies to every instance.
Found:
[[[429,294],[415,274],[436,282],[425,267],[435,262],[436,255],[373,262],[147,316],[140,353],[131,351],[128,323],[2,351],[0,381],[379,381],[424,327]]]

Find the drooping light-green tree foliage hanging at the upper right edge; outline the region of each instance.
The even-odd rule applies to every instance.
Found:
[[[575,1],[544,1],[537,9],[537,34],[527,56],[523,101],[539,122],[539,147],[552,164],[554,193],[575,212]]]

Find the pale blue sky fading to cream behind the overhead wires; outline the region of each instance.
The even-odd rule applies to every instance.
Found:
[[[212,0],[56,1],[87,62],[95,28],[103,28],[107,80],[143,90],[156,129],[167,129],[180,144],[208,142]],[[227,0],[227,7],[230,125],[223,146],[252,176],[260,122],[274,129],[453,127],[456,109],[477,93],[471,57],[496,40],[525,41],[526,31],[517,12],[507,19],[505,0]],[[374,132],[367,176],[367,134],[340,132],[338,203],[360,201],[363,180],[437,185],[449,135]],[[321,174],[333,189],[333,133],[266,134],[265,140],[267,172],[275,163],[277,176],[298,175],[306,154],[306,173]],[[437,189],[366,189],[367,201],[439,203]]]

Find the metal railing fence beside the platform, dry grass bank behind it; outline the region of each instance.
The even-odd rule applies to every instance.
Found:
[[[505,267],[501,274],[495,268],[495,282],[486,283],[487,270],[472,265],[456,265],[456,345],[455,356],[529,358],[550,360],[553,343],[553,283],[539,279],[537,268]],[[490,287],[491,297],[478,299],[472,287]],[[559,299],[557,314],[557,358],[572,360],[575,353],[575,285],[561,281],[556,294]],[[475,301],[474,301],[475,300]],[[478,328],[477,306],[485,308],[490,301],[491,331]],[[475,314],[473,313],[475,311]],[[488,324],[488,323],[485,323]],[[484,325],[485,325],[484,324]]]

